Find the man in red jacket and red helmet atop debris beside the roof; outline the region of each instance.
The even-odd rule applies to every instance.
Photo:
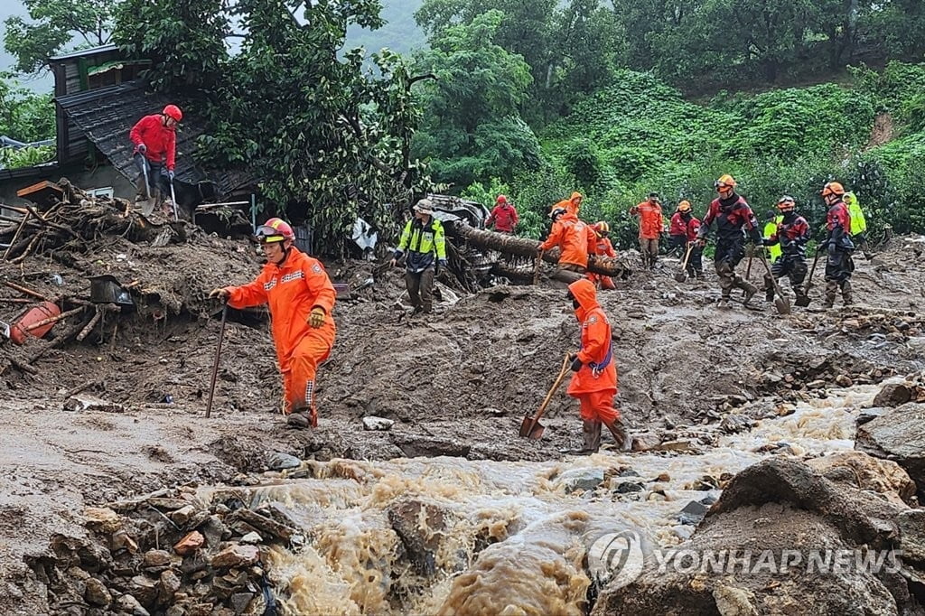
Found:
[[[161,113],[142,117],[131,127],[129,139],[135,145],[133,156],[141,173],[137,182],[138,201],[154,198],[163,202],[170,194],[177,163],[177,124],[181,119],[183,113],[177,105],[166,105]],[[143,167],[147,167],[147,185]],[[169,203],[166,209],[170,209]]]

